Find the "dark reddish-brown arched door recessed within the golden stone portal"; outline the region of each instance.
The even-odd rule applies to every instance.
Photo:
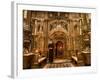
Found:
[[[64,56],[64,44],[62,41],[56,42],[56,51],[55,51],[55,57],[56,58],[63,58]]]

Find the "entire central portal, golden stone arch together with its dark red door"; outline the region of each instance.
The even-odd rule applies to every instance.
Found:
[[[48,32],[48,39],[54,43],[55,59],[67,59],[67,35],[67,30],[60,24]]]

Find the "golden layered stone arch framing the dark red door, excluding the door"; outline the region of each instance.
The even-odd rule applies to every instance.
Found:
[[[68,32],[62,28],[62,27],[57,27],[53,30],[51,30],[49,33],[48,33],[48,37],[49,39],[52,39],[55,46],[56,46],[56,43],[58,41],[61,41],[64,45],[63,49],[64,49],[64,55],[63,55],[63,58],[66,58],[66,50],[67,50],[67,36],[68,36]]]

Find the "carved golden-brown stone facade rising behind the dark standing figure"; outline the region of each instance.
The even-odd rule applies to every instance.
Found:
[[[57,51],[62,51],[61,58],[64,59],[71,59],[76,52],[86,48],[90,51],[90,13],[24,10],[23,16],[23,44],[29,52],[38,50],[42,56],[47,56],[51,40],[54,43],[54,58]]]

